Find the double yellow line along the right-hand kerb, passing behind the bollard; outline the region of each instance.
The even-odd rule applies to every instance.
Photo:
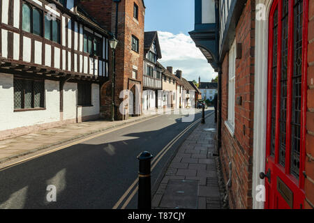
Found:
[[[207,118],[207,116],[210,116],[211,114],[214,114],[214,112],[211,112],[210,114],[207,114],[205,116],[205,118]],[[154,168],[156,167],[156,165],[158,164],[158,162],[161,160],[161,158],[165,155],[165,153],[167,153],[167,151],[170,150],[170,148],[172,148],[172,146],[186,133],[188,132],[188,130],[190,130],[190,128],[192,128],[194,125],[196,125],[198,122],[200,122],[201,118],[197,119],[197,121],[193,122],[192,124],[188,125],[187,128],[185,128],[182,132],[180,132],[177,137],[174,137],[174,139],[172,139],[157,155],[156,157],[154,157],[154,159],[151,161],[151,171],[154,170]],[[124,202],[124,204],[121,206],[121,209],[126,208],[126,206],[128,205],[128,203],[130,203],[131,199],[133,199],[134,195],[136,194],[137,190],[138,190],[138,178],[136,180],[134,180],[134,182],[132,183],[132,185],[130,185],[130,187],[128,187],[128,190],[126,190],[126,192],[120,197],[119,201],[117,201],[117,203],[113,206],[112,209],[118,209],[119,206],[121,206],[121,203],[126,199],[126,197],[128,196],[128,194],[130,194],[130,191],[132,191],[132,193],[130,194],[130,196],[128,197],[128,199],[126,199],[126,201]],[[135,187],[136,185],[136,187]],[[134,188],[135,187],[135,188]],[[134,188],[134,189],[133,189]]]

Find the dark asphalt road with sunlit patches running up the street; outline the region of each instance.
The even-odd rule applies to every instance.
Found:
[[[137,155],[142,151],[157,155],[191,124],[182,122],[182,117],[158,116],[3,169],[0,208],[112,208],[137,178]],[[196,114],[194,121],[200,117]],[[194,127],[158,162],[152,172],[152,187]],[[57,201],[47,201],[48,185],[56,187]],[[137,208],[137,194],[126,208]]]

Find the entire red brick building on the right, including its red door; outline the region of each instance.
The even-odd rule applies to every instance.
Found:
[[[215,1],[214,18],[204,4],[190,34],[219,75],[230,208],[313,208],[314,2]]]

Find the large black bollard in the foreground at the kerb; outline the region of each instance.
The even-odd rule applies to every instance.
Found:
[[[151,159],[153,155],[144,151],[137,156],[140,160],[138,171],[138,203],[140,210],[151,209]]]

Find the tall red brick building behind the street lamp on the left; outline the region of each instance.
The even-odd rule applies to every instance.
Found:
[[[107,30],[116,33],[116,7],[112,0],[83,0],[87,12]],[[144,17],[143,0],[121,0],[118,6],[118,29],[116,49],[116,77],[114,84],[115,119],[123,116],[119,106],[123,99],[119,94],[130,90],[135,95],[135,84],[140,84],[142,91],[143,58],[144,58]],[[110,75],[112,68],[110,68]],[[111,79],[111,78],[110,78]],[[112,82],[106,82],[100,89],[100,114],[110,118],[112,105]],[[140,111],[140,108],[138,108]]]

